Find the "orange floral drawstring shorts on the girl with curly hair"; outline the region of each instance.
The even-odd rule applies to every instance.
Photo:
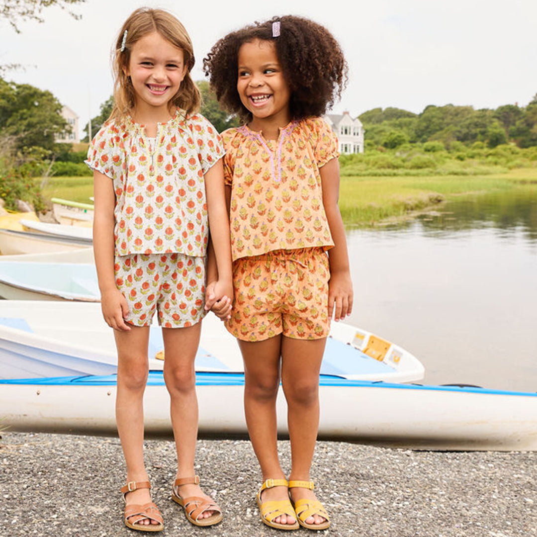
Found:
[[[235,301],[226,328],[243,341],[283,333],[328,336],[328,257],[322,248],[276,250],[233,263]]]

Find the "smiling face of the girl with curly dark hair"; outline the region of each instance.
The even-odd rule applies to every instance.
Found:
[[[253,115],[251,126],[263,124],[285,127],[291,121],[287,83],[272,41],[255,39],[238,51],[237,91],[242,104]]]

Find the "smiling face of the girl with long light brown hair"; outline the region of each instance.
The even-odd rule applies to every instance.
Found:
[[[134,43],[125,70],[134,88],[135,107],[167,113],[186,71],[183,50],[157,32],[144,35]]]

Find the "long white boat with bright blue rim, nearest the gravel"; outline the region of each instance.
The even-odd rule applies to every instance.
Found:
[[[196,376],[200,437],[246,438],[244,374]],[[3,424],[13,431],[115,435],[116,380],[114,374],[0,380]],[[320,439],[440,451],[537,451],[534,393],[349,380],[323,373],[319,393]],[[279,434],[285,438],[281,389],[277,410]],[[149,374],[144,421],[146,436],[172,436],[161,371]]]

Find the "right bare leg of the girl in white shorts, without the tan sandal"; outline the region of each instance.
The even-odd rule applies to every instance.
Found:
[[[164,381],[170,394],[170,415],[177,450],[177,478],[194,476],[198,440],[198,398],[195,389],[194,359],[198,351],[201,322],[187,328],[163,328]],[[179,487],[183,498],[198,496],[212,500],[199,485]],[[210,517],[206,511],[202,517]]]

